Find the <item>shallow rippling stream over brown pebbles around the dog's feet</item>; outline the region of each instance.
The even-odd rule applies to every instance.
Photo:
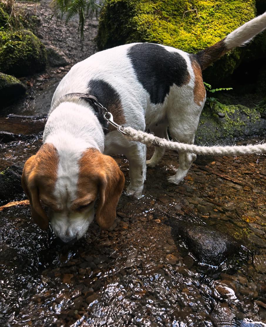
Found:
[[[24,110],[35,118],[7,118],[14,106],[0,118],[14,133],[1,134],[1,169],[38,150],[52,93]],[[92,224],[72,247],[37,228],[29,206],[0,211],[0,325],[266,326],[265,156],[199,156],[175,186],[177,168],[167,152],[140,200],[122,195],[114,230]]]

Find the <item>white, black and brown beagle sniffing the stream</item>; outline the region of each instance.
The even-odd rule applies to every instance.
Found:
[[[192,144],[206,99],[202,70],[265,27],[266,13],[197,54],[133,43],[98,52],[75,64],[53,96],[43,145],[25,163],[22,185],[34,221],[45,229],[50,220],[61,240],[73,242],[92,222],[99,194],[96,219],[101,228],[108,229],[116,217],[125,182],[108,154],[127,157],[127,193],[136,197],[142,194],[146,164],[157,165],[164,154],[163,148],[155,147],[146,161],[146,146],[106,126],[86,95],[96,97],[119,125],[150,129],[166,139],[169,127],[174,140]],[[178,170],[169,177],[174,184],[183,180],[196,158],[191,153],[178,155]],[[42,204],[49,207],[48,214]]]

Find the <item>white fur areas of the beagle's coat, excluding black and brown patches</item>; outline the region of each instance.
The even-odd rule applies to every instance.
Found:
[[[225,39],[226,52],[247,42],[266,27],[266,14],[230,33]],[[104,136],[103,130],[91,105],[77,97],[64,98],[69,93],[87,93],[91,79],[101,79],[109,83],[119,94],[125,126],[144,131],[149,128],[159,137],[168,138],[167,127],[175,141],[193,143],[199,117],[205,103],[194,101],[195,74],[189,54],[161,45],[168,52],[181,55],[187,63],[189,81],[178,87],[170,87],[162,104],[150,101],[149,93],[138,81],[136,72],[127,56],[127,50],[134,44],[126,44],[98,52],[86,60],[75,64],[59,83],[52,99],[43,143],[54,145],[58,151],[59,164],[53,196],[61,203],[63,211],[52,214],[54,232],[61,238],[80,238],[93,220],[93,203],[82,213],[69,213],[69,207],[76,196],[78,161],[88,148],[96,148],[105,154],[123,153],[129,162],[130,184],[128,194],[140,197],[146,178],[146,163],[155,166],[164,154],[164,149],[155,147],[155,152],[146,162],[146,146],[128,141],[118,131],[110,131]],[[204,91],[205,92],[205,91]],[[179,167],[169,181],[178,184],[188,173],[194,154],[178,153]]]

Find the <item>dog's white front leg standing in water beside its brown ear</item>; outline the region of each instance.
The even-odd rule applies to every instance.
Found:
[[[141,198],[143,184],[146,180],[146,146],[134,143],[127,148],[126,157],[129,163],[130,184],[126,191],[128,195]]]

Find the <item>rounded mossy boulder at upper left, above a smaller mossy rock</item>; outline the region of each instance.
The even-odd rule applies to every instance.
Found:
[[[41,41],[28,30],[0,32],[0,71],[16,77],[42,71],[47,62]]]

